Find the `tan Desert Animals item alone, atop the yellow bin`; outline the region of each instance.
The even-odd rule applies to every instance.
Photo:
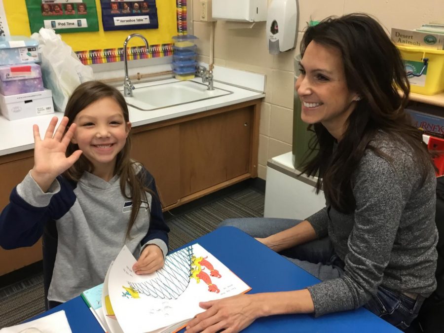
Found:
[[[417,46],[434,50],[444,48],[444,35],[440,34],[392,28],[391,37],[397,45]]]

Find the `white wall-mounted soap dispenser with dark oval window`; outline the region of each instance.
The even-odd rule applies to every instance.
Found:
[[[298,27],[297,0],[272,0],[267,13],[268,51],[278,54],[295,48]]]

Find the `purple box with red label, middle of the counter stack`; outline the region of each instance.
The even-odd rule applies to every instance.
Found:
[[[37,64],[0,66],[0,94],[4,96],[42,91],[40,66]]]

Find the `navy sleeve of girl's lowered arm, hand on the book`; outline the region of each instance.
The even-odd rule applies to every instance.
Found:
[[[143,246],[151,239],[160,239],[168,247],[168,232],[170,228],[163,220],[162,204],[160,202],[159,194],[157,193],[156,182],[154,177],[148,172],[147,169],[142,168],[141,176],[143,177],[145,186],[151,191],[151,207],[150,221],[147,235],[142,239],[141,245]]]

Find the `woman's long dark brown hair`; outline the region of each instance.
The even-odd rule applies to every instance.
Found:
[[[399,51],[379,23],[366,14],[329,17],[307,28],[300,44],[302,57],[311,41],[341,52],[347,86],[361,100],[350,114],[334,153],[335,139],[327,129],[321,123],[309,126],[316,133],[309,151],[313,158],[304,164],[302,173],[319,176],[317,189],[323,186],[332,207],[351,213],[356,208],[351,177],[364,151],[372,149],[390,162],[390,156],[370,144],[383,130],[393,140],[405,140],[412,148],[424,181],[431,156],[421,132],[411,126],[404,111],[410,85]]]

